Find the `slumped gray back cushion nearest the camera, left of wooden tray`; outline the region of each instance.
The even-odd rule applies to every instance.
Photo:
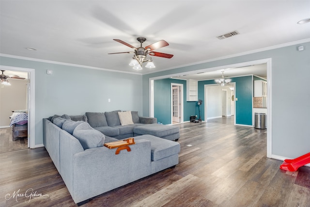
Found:
[[[73,136],[78,139],[85,149],[101,147],[105,141],[105,135],[93,129],[88,123],[79,124],[73,131]]]

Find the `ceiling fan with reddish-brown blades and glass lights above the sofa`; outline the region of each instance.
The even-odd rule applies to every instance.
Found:
[[[148,64],[145,65],[145,67],[148,68],[154,68],[155,65],[153,63],[152,58],[147,59],[146,56],[152,55],[152,56],[157,56],[157,57],[162,57],[162,58],[172,58],[173,55],[167,54],[167,53],[162,53],[162,52],[155,52],[153,50],[158,49],[158,48],[163,48],[166,46],[169,46],[168,42],[165,40],[160,40],[158,42],[155,42],[151,45],[148,45],[146,47],[142,47],[142,43],[145,42],[146,38],[145,37],[138,37],[137,40],[140,42],[140,47],[136,48],[123,40],[119,39],[113,39],[116,42],[119,42],[125,46],[128,46],[129,48],[133,48],[134,51],[130,52],[115,52],[115,53],[108,53],[108,54],[120,54],[120,53],[134,53],[134,57],[132,58],[133,60],[130,62],[129,65],[133,66],[134,69],[140,70],[142,69],[142,63],[148,62]]]

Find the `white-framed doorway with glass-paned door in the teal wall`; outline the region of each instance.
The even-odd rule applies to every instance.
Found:
[[[171,123],[183,123],[183,84],[171,83]]]

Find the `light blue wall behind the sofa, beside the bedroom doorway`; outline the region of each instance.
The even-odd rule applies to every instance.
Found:
[[[0,65],[35,69],[35,144],[43,143],[42,118],[87,111],[139,111],[141,75],[0,57]],[[47,69],[53,75],[47,75]],[[111,102],[108,102],[110,98]]]

